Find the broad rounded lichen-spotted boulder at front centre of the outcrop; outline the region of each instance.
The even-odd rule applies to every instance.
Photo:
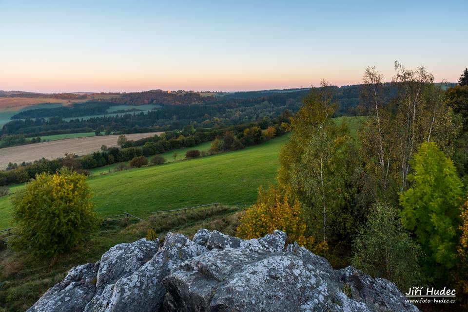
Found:
[[[330,309],[327,283],[291,254],[261,246],[212,250],[164,279],[167,311],[322,311]],[[170,298],[170,297],[169,297]]]

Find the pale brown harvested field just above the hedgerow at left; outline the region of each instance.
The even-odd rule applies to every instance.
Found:
[[[138,140],[162,132],[126,134],[129,140]],[[86,155],[98,151],[102,145],[117,146],[118,135],[93,136],[84,138],[64,139],[51,142],[0,148],[0,169],[5,169],[8,163],[33,162],[41,159],[55,159],[65,153]]]

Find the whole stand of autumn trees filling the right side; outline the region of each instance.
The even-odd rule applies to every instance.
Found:
[[[238,228],[250,239],[281,228],[335,266],[348,263],[400,289],[457,289],[468,306],[468,70],[446,91],[425,67],[365,70],[357,137],[331,120],[322,82],[292,116],[277,185],[260,189]]]

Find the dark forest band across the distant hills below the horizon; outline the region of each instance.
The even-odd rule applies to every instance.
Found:
[[[385,84],[385,96],[395,93],[391,84]],[[338,109],[333,116],[357,115],[362,85],[332,87],[333,100]],[[296,112],[308,89],[271,90],[258,92],[225,93],[224,96],[200,96],[198,93],[167,93],[162,91],[125,93],[106,100],[90,100],[86,103],[51,109],[33,109],[17,113],[1,131],[2,146],[9,142],[23,142],[22,138],[74,132],[137,133],[166,131],[193,125],[195,128],[224,128],[256,121],[264,117],[274,118],[284,110]],[[97,116],[115,105],[154,104],[148,112],[118,110],[113,116]],[[156,107],[156,105],[158,105]],[[86,118],[79,118],[87,116]],[[68,118],[68,119],[66,119]],[[72,119],[70,119],[72,118]],[[10,137],[8,137],[10,136]]]

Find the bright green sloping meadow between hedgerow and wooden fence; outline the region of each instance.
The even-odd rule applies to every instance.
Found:
[[[284,135],[234,152],[97,175],[88,183],[102,216],[126,211],[144,217],[149,211],[207,202],[246,206],[255,201],[260,185],[275,182],[279,150],[288,139]],[[0,198],[0,229],[9,226],[10,196]]]

